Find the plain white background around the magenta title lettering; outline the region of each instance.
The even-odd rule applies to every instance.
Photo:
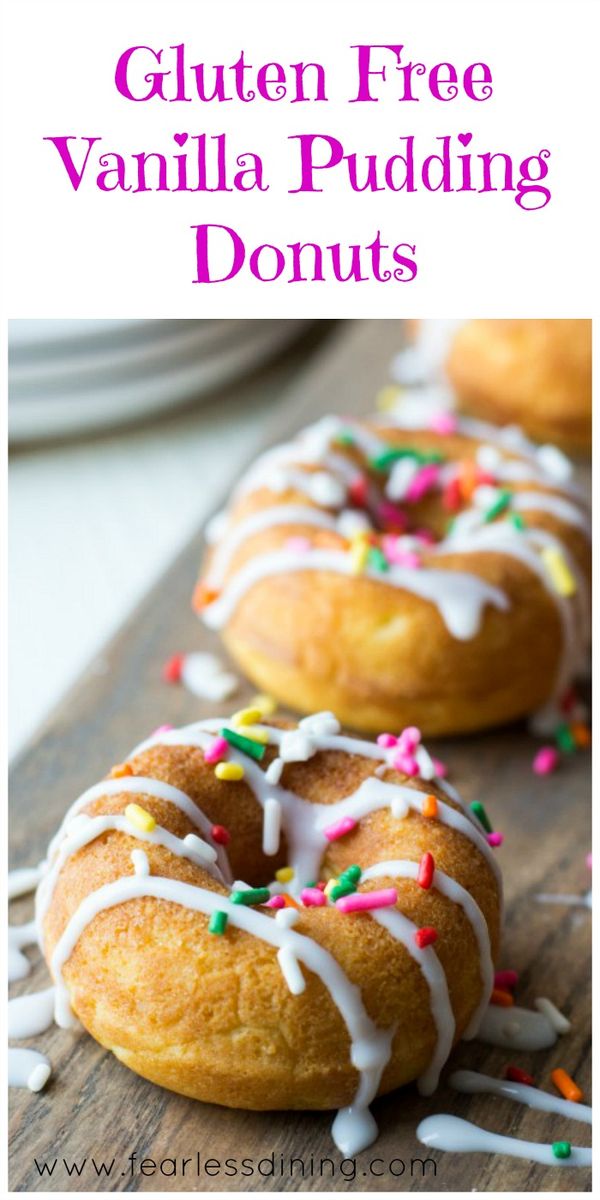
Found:
[[[5,37],[11,316],[588,316],[598,204],[593,11],[583,0],[12,0]],[[242,47],[257,65],[318,60],[330,102],[134,104],[119,96],[113,76],[127,46],[180,41],[190,62],[229,64]],[[401,104],[390,80],[384,102],[349,104],[355,42],[400,42],[406,56],[427,65],[487,61],[493,98]],[[163,150],[184,130],[228,130],[236,152],[262,152],[270,191],[103,194],[86,176],[74,193],[55,149],[43,142],[101,136],[106,150],[126,154]],[[548,148],[550,205],[523,212],[509,193],[354,194],[341,173],[329,173],[322,196],[287,194],[292,133],[332,132],[348,151],[391,155],[400,134],[415,133],[430,152],[436,136],[466,130],[475,149],[505,150],[517,162]],[[242,271],[227,283],[193,286],[190,227],[202,221],[233,226],[251,247],[366,244],[380,229],[388,242],[416,244],[419,275],[404,284],[325,286],[260,283]]]

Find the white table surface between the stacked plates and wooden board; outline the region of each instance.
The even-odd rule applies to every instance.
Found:
[[[252,455],[298,362],[8,469],[8,752],[30,740]]]

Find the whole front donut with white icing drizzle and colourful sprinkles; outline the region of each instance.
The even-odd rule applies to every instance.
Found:
[[[328,713],[162,727],[50,844],[58,1024],[184,1096],[340,1108],[340,1150],[370,1145],[374,1096],[431,1093],[493,985],[494,835],[436,768],[414,727],[360,742]]]

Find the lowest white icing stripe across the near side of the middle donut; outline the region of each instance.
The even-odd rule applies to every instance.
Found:
[[[354,576],[352,559],[342,551],[308,550],[304,554],[295,554],[283,548],[257,554],[240,568],[221,595],[206,605],[203,620],[210,629],[222,629],[254,584],[294,571],[332,571],[336,575]],[[367,566],[360,578],[374,580],[382,586],[401,588],[428,600],[437,607],[449,632],[458,641],[469,641],[476,635],[487,604],[502,612],[509,608],[504,592],[464,571],[444,571],[443,590],[437,569],[390,566],[382,575]]]

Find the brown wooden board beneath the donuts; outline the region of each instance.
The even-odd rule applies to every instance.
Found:
[[[329,337],[280,409],[269,440],[331,409],[366,412],[376,389],[385,382],[388,364],[398,344],[396,322],[344,323]],[[224,481],[228,482],[228,481]],[[221,500],[215,497],[215,506]],[[162,721],[182,724],[208,714],[206,706],[161,680],[163,661],[176,650],[215,648],[190,610],[190,595],[200,552],[200,536],[179,557],[162,582],[128,620],[113,644],[94,662],[80,684],[48,722],[36,743],[16,764],[11,781],[11,865],[36,863],[46,850],[65,808],[89,784],[101,779],[113,762]],[[84,598],[82,598],[84,602]],[[242,689],[235,704],[251,689]],[[212,706],[215,709],[216,706]],[[221,706],[226,712],[228,706]],[[548,1051],[518,1056],[540,1086],[552,1090],[550,1072],[563,1066],[589,1096],[589,913],[536,902],[539,892],[584,892],[584,854],[590,845],[589,761],[580,754],[550,779],[530,769],[535,743],[523,727],[479,737],[438,742],[436,752],[451,766],[451,779],[467,799],[480,798],[505,833],[500,862],[505,871],[506,924],[503,965],[521,973],[518,1000],[533,1006],[550,996],[572,1020],[572,1032]],[[29,918],[30,899],[13,905],[12,919]],[[31,991],[48,984],[34,955],[32,976],[19,985]],[[414,1087],[378,1100],[377,1144],[341,1174],[340,1156],[330,1138],[330,1114],[253,1114],[199,1104],[138,1079],[86,1036],[60,1030],[34,1039],[54,1068],[44,1092],[25,1090],[11,1096],[11,1187],[13,1190],[584,1190],[588,1172],[546,1169],[528,1162],[484,1154],[439,1154],[437,1174],[425,1178],[418,1162],[426,1156],[415,1138],[419,1120],[450,1111],[498,1133],[551,1142],[568,1138],[584,1145],[586,1126],[535,1114],[509,1100],[460,1097],[443,1084],[427,1100]],[[463,1043],[452,1067],[502,1073],[514,1056],[478,1042]],[[448,1072],[445,1072],[448,1075]],[[179,1159],[172,1177],[169,1162],[145,1175],[131,1174],[128,1156],[156,1164]],[[203,1160],[235,1157],[253,1159],[254,1174],[211,1175]],[[302,1157],[283,1176],[266,1175],[275,1154]],[[110,1175],[96,1174],[101,1162],[114,1160]],[[181,1176],[181,1159],[191,1162]],[[62,1165],[76,1163],[70,1177]],[[335,1177],[319,1162],[336,1166]],[[40,1176],[36,1160],[56,1162],[52,1176]],[[313,1174],[311,1177],[311,1162]],[[370,1165],[372,1164],[372,1165]],[[391,1164],[391,1165],[390,1165]],[[80,1174],[77,1171],[80,1169]],[[102,1170],[100,1168],[100,1170]],[[209,1169],[215,1171],[216,1169]],[[222,1170],[226,1170],[223,1166]],[[233,1170],[233,1168],[228,1168]],[[241,1168],[240,1168],[241,1170]],[[250,1170],[250,1168],[246,1168]]]

